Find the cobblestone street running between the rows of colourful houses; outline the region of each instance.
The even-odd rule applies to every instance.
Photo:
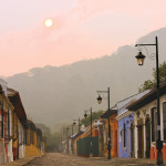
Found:
[[[107,160],[102,157],[77,157],[59,153],[49,153],[33,159],[25,166],[155,166],[156,160],[152,159],[120,159]]]

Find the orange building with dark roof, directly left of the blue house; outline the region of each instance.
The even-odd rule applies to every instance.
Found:
[[[118,156],[118,128],[117,128],[117,110],[110,110],[106,111],[101,117],[106,118],[106,146],[105,146],[105,153],[106,156],[108,154],[107,145],[108,145],[108,118],[110,118],[110,125],[111,125],[111,156],[117,157]]]

